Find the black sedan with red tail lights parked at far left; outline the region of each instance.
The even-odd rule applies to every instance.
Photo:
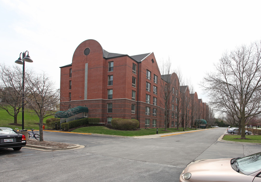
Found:
[[[12,128],[0,127],[0,149],[20,150],[25,145],[25,135],[17,133]]]

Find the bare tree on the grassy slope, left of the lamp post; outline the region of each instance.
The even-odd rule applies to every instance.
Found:
[[[31,70],[26,70],[26,78]],[[25,90],[25,95],[28,93]],[[22,107],[22,70],[19,66],[0,65],[0,108],[14,117],[17,124],[17,115]]]

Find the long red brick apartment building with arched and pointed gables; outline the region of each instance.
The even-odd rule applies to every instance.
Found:
[[[109,53],[97,41],[89,39],[76,48],[72,64],[60,68],[61,111],[84,106],[88,108],[87,117],[100,118],[100,123],[110,124],[112,118],[135,118],[140,128],[164,127],[161,86],[167,82],[159,72],[153,52],[134,56]],[[175,73],[170,76],[178,80]],[[198,101],[197,93],[190,94],[188,86],[175,87],[168,103],[168,127],[177,124],[185,127],[186,121],[190,127],[196,118],[194,112],[201,113],[200,119],[207,117],[208,107]],[[185,113],[177,110],[178,95],[193,98],[193,102],[185,104]],[[177,122],[179,116],[182,122]]]

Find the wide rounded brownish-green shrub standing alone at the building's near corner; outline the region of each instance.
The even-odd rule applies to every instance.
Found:
[[[139,127],[139,121],[134,119],[112,118],[111,126],[115,129],[130,130]]]

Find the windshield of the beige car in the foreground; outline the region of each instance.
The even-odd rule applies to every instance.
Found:
[[[261,169],[261,152],[236,159],[236,162],[242,173],[250,175]]]

